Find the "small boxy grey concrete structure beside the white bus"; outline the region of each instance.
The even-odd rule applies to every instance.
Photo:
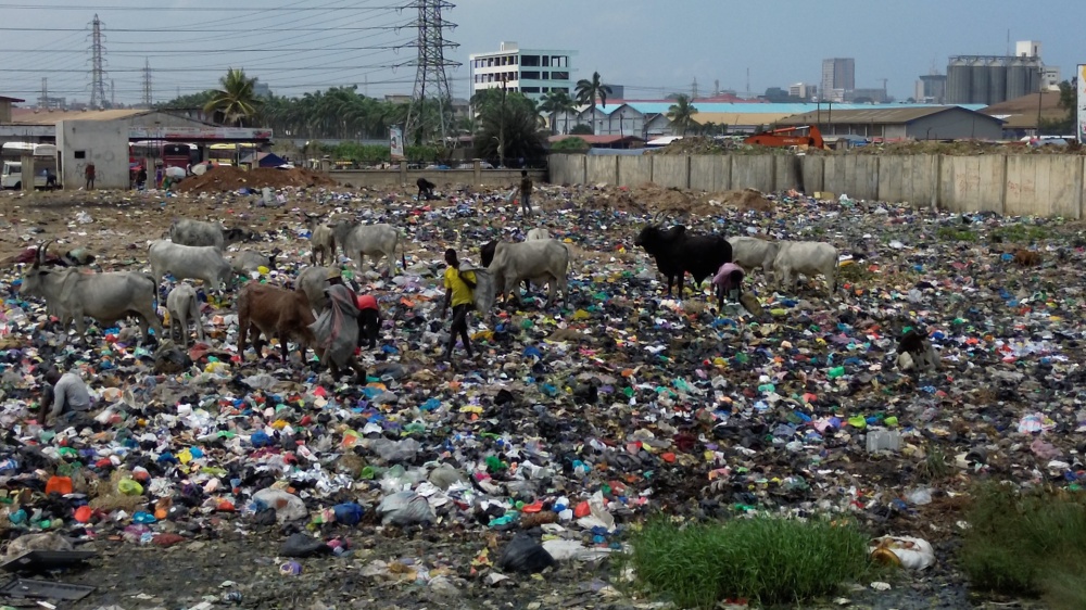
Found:
[[[94,164],[96,189],[127,189],[128,125],[122,120],[62,120],[56,124],[58,177],[65,189],[85,185]]]

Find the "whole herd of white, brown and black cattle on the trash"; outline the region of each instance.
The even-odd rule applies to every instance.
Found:
[[[387,272],[394,274],[394,257],[399,251],[406,268],[406,256],[400,231],[387,224],[320,223],[310,217],[311,266],[294,278],[293,289],[249,282],[238,293],[238,353],[243,355],[247,336],[252,333],[257,354],[261,334],[276,336],[287,358],[287,342],[293,340],[303,354],[307,347],[316,348],[310,325],[327,307],[325,289],[328,278],[338,267],[326,267],[326,260],[337,260],[337,249],[363,270],[369,256],[375,266],[387,258]],[[74,320],[78,335],[86,331],[86,317],[101,325],[112,325],[123,318],[139,318],[144,341],[150,340],[149,329],[163,336],[162,322],[156,314],[159,283],[169,274],[177,283],[166,297],[171,320],[171,336],[179,330],[181,341],[188,344],[188,325],[195,325],[197,339],[203,341],[200,304],[195,289],[181,280],[201,280],[205,288],[230,288],[236,275],[252,274],[261,267],[274,269],[279,250],[264,255],[253,250],[241,250],[227,255],[227,246],[257,239],[260,236],[245,229],[226,228],[218,223],[177,219],[168,230],[168,239],[152,241],[148,247],[151,272],[109,271],[90,272],[79,267],[58,267],[47,264],[49,243],[38,246],[33,265],[26,269],[20,291],[26,296],[46,301],[50,315],[60,319],[62,329]],[[682,294],[683,277],[690,274],[695,285],[714,276],[721,265],[735,263],[747,270],[759,268],[779,287],[793,288],[794,274],[813,278],[825,277],[832,295],[836,291],[837,251],[824,242],[770,241],[754,237],[724,238],[719,234],[693,234],[682,225],[664,229],[657,219],[645,226],[634,240],[656,260],[660,272],[668,278],[668,295],[672,284]],[[319,257],[320,265],[317,265]],[[490,282],[480,282],[489,292],[477,298],[477,306],[485,313],[495,296],[508,300],[519,295],[525,282],[547,284],[547,306],[560,291],[567,294],[567,276],[570,249],[563,241],[552,239],[546,229],[532,229],[523,242],[491,241],[480,250],[480,276]]]

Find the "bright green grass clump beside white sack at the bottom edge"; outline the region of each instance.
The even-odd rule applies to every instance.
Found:
[[[682,608],[735,598],[796,603],[867,574],[867,545],[849,521],[758,517],[680,525],[659,519],[633,536],[629,559],[642,588]]]

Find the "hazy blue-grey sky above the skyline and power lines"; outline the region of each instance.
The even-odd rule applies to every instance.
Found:
[[[357,85],[380,97],[411,93],[417,18],[409,0],[0,0],[0,96],[33,100],[90,93],[90,23],[105,37],[106,97],[138,103],[150,64],[154,101],[216,85],[242,67],[280,96]],[[1086,0],[460,0],[445,9],[457,24],[446,39],[453,94],[468,94],[468,54],[521,48],[577,51],[573,78],[598,72],[629,99],[721,89],[763,92],[818,84],[825,58],[855,58],[856,86],[887,79],[892,96],[912,96],[952,54],[1007,52],[1039,40],[1046,65],[1063,78],[1086,63],[1071,23],[1086,23]]]

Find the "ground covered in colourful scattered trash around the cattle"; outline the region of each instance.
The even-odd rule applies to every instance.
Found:
[[[661,511],[854,514],[886,536],[876,551],[907,547],[898,561],[934,560],[931,571],[962,528],[955,507],[972,481],[1078,488],[1079,224],[796,192],[759,193],[771,205],[757,209],[673,209],[691,231],[837,247],[832,297],[813,278],[776,291],[752,272],[756,319],[718,310],[707,290],[664,294],[633,244],[656,212],[652,192],[539,185],[544,213],[529,219],[503,190],[453,186],[438,201],[286,187],[274,207],[255,190],[0,195],[9,263],[55,239],[60,251],[92,251],[94,268],[147,269],[148,241],[176,217],[261,233],[230,250],[282,251],[276,268],[225,293],[201,290],[207,341],[174,367],[131,320],[92,325],[85,343],[59,334],[45,303],[18,292],[27,265],[3,269],[5,560],[99,554],[60,574],[98,587],[72,608],[522,603],[552,589],[603,607],[622,594],[601,561]],[[630,205],[606,204],[623,198]],[[293,346],[288,363],[274,345],[237,353],[237,287],[292,285],[310,260],[306,214],[407,236],[394,277],[380,275],[384,263],[340,259],[384,319],[377,348],[361,351],[365,385],[332,380]],[[571,244],[568,297],[545,308],[533,285],[519,305],[471,319],[475,359],[442,361],[444,250],[478,260],[487,241],[538,226]],[[934,370],[902,370],[897,345],[910,330],[935,347]],[[42,424],[48,364],[85,379],[92,410]],[[186,555],[203,564],[157,581]],[[544,569],[558,574],[550,584],[531,576]]]

